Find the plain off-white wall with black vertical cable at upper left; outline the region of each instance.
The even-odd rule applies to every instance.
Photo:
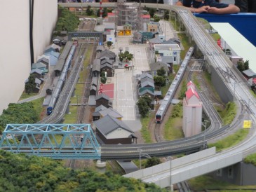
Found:
[[[30,71],[29,1],[0,1],[0,114],[17,102]],[[57,20],[57,0],[34,0],[34,58],[49,45]]]

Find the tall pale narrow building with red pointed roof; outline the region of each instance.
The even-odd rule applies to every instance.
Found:
[[[185,137],[191,137],[201,132],[202,102],[190,81],[187,83],[186,97],[183,99],[182,129]]]

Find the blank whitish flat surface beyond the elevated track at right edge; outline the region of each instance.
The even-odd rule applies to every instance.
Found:
[[[250,69],[256,72],[255,46],[227,22],[210,22],[210,25],[217,30],[236,55],[243,57],[244,61],[249,61]]]

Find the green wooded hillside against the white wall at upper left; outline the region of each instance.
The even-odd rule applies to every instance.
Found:
[[[73,13],[59,6],[61,12],[60,18],[58,18],[55,31],[59,35],[61,31],[72,32],[79,26],[79,18]]]

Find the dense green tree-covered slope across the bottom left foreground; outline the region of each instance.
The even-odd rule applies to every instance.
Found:
[[[61,161],[0,151],[0,191],[166,191],[112,172],[71,170]]]

